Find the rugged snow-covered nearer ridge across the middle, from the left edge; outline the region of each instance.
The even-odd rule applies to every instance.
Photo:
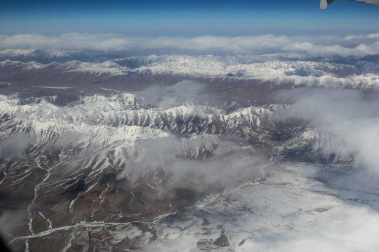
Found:
[[[62,132],[69,129],[78,133],[91,132],[91,127],[100,126],[137,126],[169,130],[173,134],[231,134],[248,139],[262,139],[268,134],[266,127],[270,127],[267,120],[272,111],[277,109],[277,106],[251,106],[226,113],[213,106],[198,104],[182,104],[161,109],[154,108],[143,97],[127,93],[110,97],[84,97],[79,102],[64,107],[53,105],[44,99],[25,104],[25,101],[3,96],[0,102],[3,108],[0,117],[4,118],[4,136],[15,136],[19,133],[18,130],[24,133],[25,128],[30,128],[35,132],[36,141],[44,144],[54,143]],[[8,127],[15,121],[18,122],[18,130]],[[87,130],[84,130],[84,125],[87,125]],[[52,133],[46,135],[46,130],[51,130]],[[104,136],[107,135],[109,134],[104,132]],[[96,139],[102,137],[97,136]]]

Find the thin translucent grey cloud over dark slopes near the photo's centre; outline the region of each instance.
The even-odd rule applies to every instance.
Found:
[[[135,182],[141,175],[161,170],[167,172],[172,186],[179,186],[183,178],[220,188],[233,181],[241,182],[242,178],[251,179],[259,174],[257,167],[267,161],[253,156],[253,148],[238,140],[241,139],[213,135],[147,139],[127,153],[126,169],[118,179]]]

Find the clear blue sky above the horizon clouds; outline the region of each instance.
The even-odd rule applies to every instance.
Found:
[[[68,32],[164,36],[368,34],[378,32],[379,7],[335,0],[266,1],[6,1],[0,34]]]

